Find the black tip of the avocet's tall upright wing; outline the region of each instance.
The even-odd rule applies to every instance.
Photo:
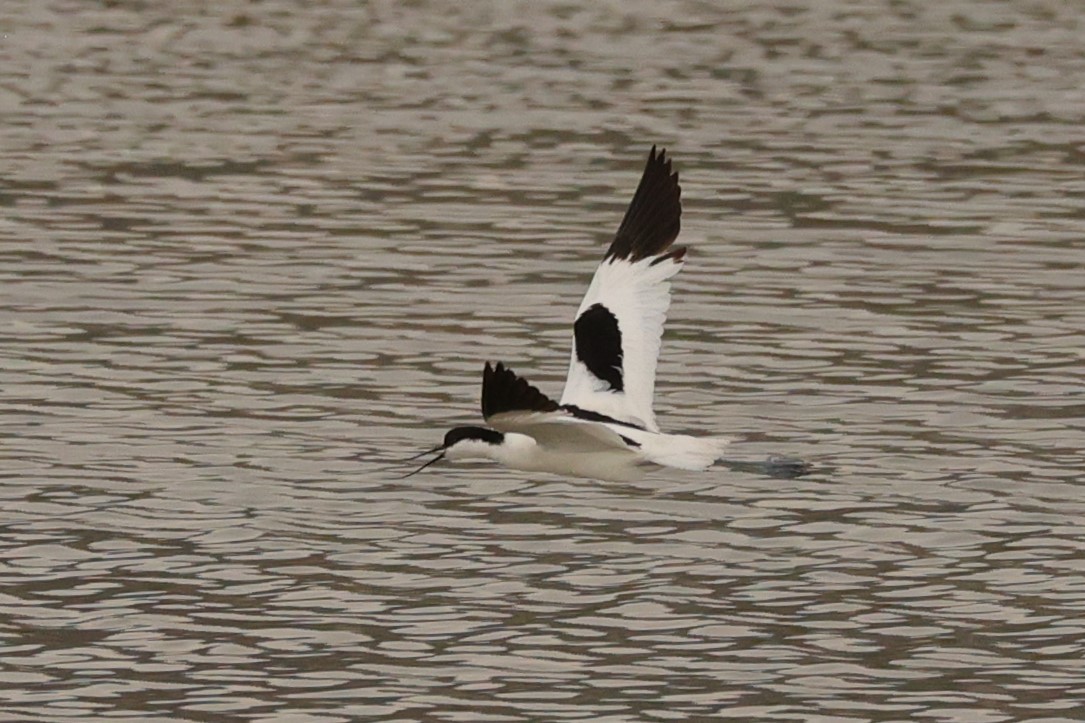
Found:
[[[644,175],[617,229],[617,234],[603,257],[638,262],[658,256],[671,248],[681,228],[681,187],[678,174],[672,173],[666,150],[648,154]],[[681,250],[685,253],[685,250]],[[676,252],[672,252],[676,253]],[[669,256],[671,254],[668,254]],[[659,263],[662,258],[656,259]]]

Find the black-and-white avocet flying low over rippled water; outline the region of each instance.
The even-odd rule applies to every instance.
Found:
[[[666,151],[652,147],[640,183],[573,322],[560,402],[498,362],[482,376],[486,427],[457,427],[433,449],[442,459],[490,459],[506,467],[628,481],[653,466],[705,470],[723,436],[660,431],[652,411],[655,364],[671,305],[671,278],[686,262],[675,246],[681,187]]]

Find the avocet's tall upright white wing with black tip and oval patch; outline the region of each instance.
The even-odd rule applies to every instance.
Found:
[[[625,218],[596,270],[573,324],[562,406],[659,431],[652,413],[655,363],[671,306],[668,279],[681,268],[681,187],[666,151],[652,147]]]

